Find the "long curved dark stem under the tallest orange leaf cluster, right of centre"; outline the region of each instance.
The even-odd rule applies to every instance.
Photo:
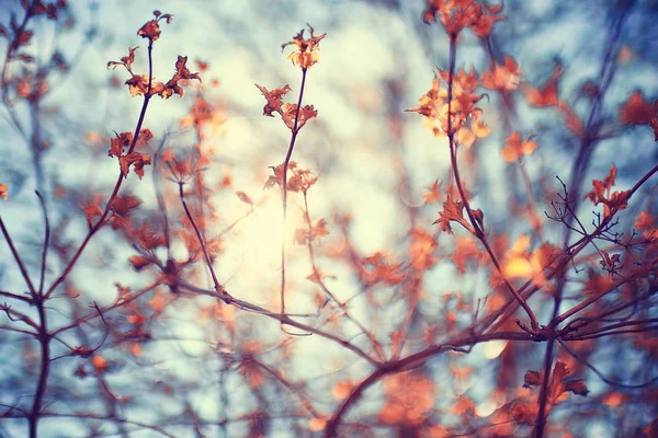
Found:
[[[500,273],[500,275],[501,275],[506,286],[510,290],[510,292],[512,292],[512,295],[514,296],[517,301],[519,301],[519,304],[523,308],[525,313],[527,313],[527,318],[530,319],[532,330],[534,332],[538,332],[540,324],[537,322],[535,314],[533,313],[532,309],[530,309],[530,307],[527,306],[525,300],[519,295],[519,292],[514,288],[514,285],[511,284],[511,281],[507,277],[507,275],[503,273],[502,266],[500,265],[500,262],[498,261],[496,253],[494,253],[491,245],[489,245],[489,241],[487,240],[487,237],[486,237],[484,230],[480,228],[479,222],[473,216],[470,205],[466,197],[464,187],[462,186],[462,180],[460,177],[460,166],[457,164],[457,151],[456,151],[456,147],[455,147],[455,142],[454,142],[454,132],[452,131],[452,88],[453,88],[453,77],[455,73],[456,51],[457,51],[456,35],[450,35],[450,64],[449,64],[449,80],[447,80],[447,141],[450,143],[450,160],[451,160],[451,165],[452,165],[454,176],[455,176],[455,184],[457,186],[457,191],[460,192],[462,201],[464,203],[464,206],[466,208],[466,214],[468,215],[468,220],[470,221],[470,223],[473,226],[475,235],[478,238],[478,240],[483,243],[483,245],[487,250],[487,253],[489,254],[489,257],[491,258],[494,266],[496,266],[496,269]]]

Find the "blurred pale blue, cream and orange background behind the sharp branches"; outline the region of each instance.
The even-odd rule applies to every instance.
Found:
[[[1,108],[0,183],[9,186],[9,199],[0,204],[0,214],[33,278],[39,273],[44,232],[34,191],[44,196],[53,230],[46,284],[57,278],[88,232],[84,206],[100,203],[103,208],[112,193],[117,170],[116,160],[106,153],[110,139],[134,130],[143,100],[132,97],[124,85],[129,77],[125,69],[107,69],[107,62],[139,46],[133,71],[147,74],[148,42],[136,33],[157,9],[173,14],[173,20],[160,23],[162,34],[152,50],[155,78],[167,81],[177,56],[183,55],[202,81],[185,84],[183,97],[154,97],[143,127],[155,136],[151,153],[162,146],[181,160],[194,154],[207,159],[198,165],[206,188],[192,191],[190,203],[205,218],[205,237],[216,237],[214,266],[232,296],[276,311],[283,239],[287,311],[310,314],[300,320],[373,355],[379,346],[388,358],[396,348],[404,357],[450,338],[469,326],[478,311],[490,310],[486,299],[504,295],[497,295],[500,287],[491,284],[490,266],[481,262],[473,238],[456,224],[455,235],[432,224],[442,207],[427,194],[439,183],[445,200],[447,139],[434,137],[421,116],[405,110],[418,106],[435,68],[447,69],[449,39],[440,24],[423,24],[423,1],[67,3],[56,21],[39,18],[31,24],[34,35],[23,51],[34,61],[12,61],[8,68],[11,77],[38,78],[39,69],[48,66],[47,90],[33,101],[10,91]],[[0,24],[8,30],[12,16],[20,23],[24,15],[19,1],[5,0],[0,8]],[[511,56],[522,87],[532,88],[559,70],[559,100],[598,137],[587,165],[578,168],[582,136],[566,126],[561,113],[531,105],[521,89],[506,101],[480,87],[478,92],[486,95],[477,105],[490,134],[461,150],[462,178],[472,205],[485,212],[486,231],[500,254],[521,237],[530,242],[524,251],[545,242],[564,247],[565,237],[569,242],[576,239],[568,237],[565,223],[545,215],[554,212],[551,201],[561,193],[555,176],[572,182],[581,172],[581,184],[575,186],[581,199],[591,181],[603,180],[613,162],[619,189],[629,188],[658,162],[650,128],[619,122],[620,107],[632,93],[642,91],[649,102],[658,94],[658,2],[508,0],[502,14],[506,19],[494,25],[486,41],[462,33],[457,69],[473,68],[479,77],[492,61],[502,64]],[[277,188],[263,186],[272,174],[270,166],[283,162],[291,132],[279,117],[262,115],[265,100],[254,84],[268,90],[290,84],[284,101],[296,102],[300,69],[286,59],[292,48],[282,53],[281,45],[307,24],[327,36],[304,89],[303,104],[313,104],[318,116],[300,130],[293,161],[318,181],[307,204],[302,194],[290,194],[284,227]],[[3,54],[8,42],[0,43]],[[37,87],[30,83],[32,90]],[[588,94],[588,84],[598,88],[597,95]],[[197,129],[193,105],[200,99],[208,104],[204,111],[209,115]],[[531,136],[537,148],[508,163],[501,149],[512,131]],[[158,194],[162,196],[178,239],[175,243],[172,238],[171,254],[184,260],[191,250],[183,243],[178,185],[166,172],[154,175],[154,166],[146,166],[145,173],[140,180],[131,172],[122,193],[141,203],[136,223],[160,223]],[[192,185],[190,181],[188,187]],[[236,192],[248,195],[253,208]],[[642,210],[656,212],[655,197],[653,182],[623,211],[619,229],[629,231]],[[576,207],[590,227],[595,220],[591,204]],[[313,221],[328,223],[329,234],[313,243],[315,265],[347,308],[325,304],[322,288],[307,278],[314,273],[308,247],[294,243],[295,230],[305,227],[306,209]],[[79,324],[50,344],[57,359],[52,362],[44,412],[52,415],[44,414],[39,436],[314,436],[322,418],[373,372],[367,361],[336,343],[305,333],[286,336],[279,322],[212,297],[174,293],[162,285],[143,289],[159,277],[157,269],[136,272],[129,262],[136,251],[135,243],[106,227],[49,301],[50,327]],[[419,252],[427,261],[415,258]],[[583,255],[590,253],[595,250]],[[167,258],[162,251],[155,254]],[[426,262],[411,281],[409,266]],[[375,265],[390,266],[402,279],[373,280]],[[598,261],[586,266],[567,274],[564,306],[581,299]],[[213,289],[201,262],[181,277]],[[109,310],[106,321],[97,318],[93,304],[105,309],[121,303],[126,287],[129,293],[144,293]],[[0,289],[25,290],[5,244],[0,245]],[[543,323],[549,321],[552,302],[549,290],[530,302]],[[21,304],[12,306],[35,314]],[[650,304],[655,299],[647,301]],[[655,310],[650,312],[655,316]],[[26,328],[5,313],[0,314],[0,328]],[[512,322],[508,328],[517,327]],[[404,336],[401,346],[394,334]],[[90,357],[70,355],[75,346],[101,344]],[[552,412],[549,436],[642,436],[635,434],[657,415],[650,400],[656,396],[651,378],[658,372],[658,346],[619,337],[577,348],[581,347],[579,357],[597,364],[609,380],[631,387],[649,383],[611,385],[560,350],[558,357],[574,376],[587,380],[590,394],[572,394],[566,407],[560,404]],[[475,346],[469,355],[438,356],[413,372],[371,387],[344,417],[344,436],[529,434],[527,426],[501,413],[529,394],[522,389],[523,376],[542,369],[544,350],[540,344],[497,341]],[[16,416],[32,406],[38,345],[20,332],[0,330],[0,436],[26,436],[26,422]],[[406,399],[411,391],[417,395]]]

